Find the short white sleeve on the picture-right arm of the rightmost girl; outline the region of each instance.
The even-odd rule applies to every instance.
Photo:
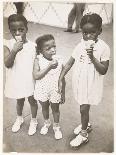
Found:
[[[110,48],[108,45],[106,45],[101,55],[101,61],[107,61],[109,59],[110,59]]]

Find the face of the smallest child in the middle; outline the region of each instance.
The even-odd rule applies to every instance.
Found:
[[[42,52],[43,56],[52,60],[52,56],[56,54],[56,44],[54,40],[44,42]]]

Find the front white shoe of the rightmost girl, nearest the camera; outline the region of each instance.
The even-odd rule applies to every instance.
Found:
[[[79,134],[78,136],[76,136],[75,139],[73,139],[71,142],[70,142],[70,145],[71,147],[78,147],[80,146],[81,144],[84,144],[84,143],[87,143],[89,140],[88,140],[88,134],[86,137],[82,136],[81,134]]]

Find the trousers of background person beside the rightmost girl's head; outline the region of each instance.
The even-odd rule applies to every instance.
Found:
[[[74,3],[73,8],[71,9],[68,15],[68,29],[72,29],[72,26],[75,21],[75,30],[79,30],[81,18],[85,9],[85,3]]]

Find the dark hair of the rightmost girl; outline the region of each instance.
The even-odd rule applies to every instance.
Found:
[[[102,27],[102,18],[96,14],[96,13],[93,13],[93,14],[86,14],[82,17],[81,19],[81,23],[80,23],[80,28],[82,29],[83,26],[86,24],[86,23],[91,23],[93,24],[97,29],[101,29]]]

